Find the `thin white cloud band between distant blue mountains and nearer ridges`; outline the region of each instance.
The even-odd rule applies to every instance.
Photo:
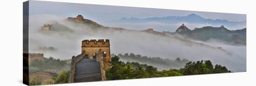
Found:
[[[148,28],[154,28],[155,31],[168,31],[175,32],[175,30],[184,23],[190,30],[194,30],[195,27],[203,26],[214,26],[219,27],[221,24],[210,25],[208,23],[188,23],[188,22],[179,22],[179,23],[162,23],[162,22],[102,22],[103,25],[111,27],[122,27],[132,30],[145,30]],[[225,26],[225,25],[224,25]],[[229,30],[243,29],[245,25],[236,25],[236,26],[225,26]]]

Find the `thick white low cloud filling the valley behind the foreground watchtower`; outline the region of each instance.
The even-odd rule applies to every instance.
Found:
[[[217,41],[203,42],[210,46],[222,47],[231,53],[230,55],[216,48],[180,40],[175,37],[164,37],[141,31],[90,28],[83,24],[68,22],[64,20],[65,18],[61,19],[61,17],[61,20],[57,18],[56,21],[74,30],[74,33],[70,33],[68,36],[59,35],[58,32],[54,34],[39,33],[40,27],[47,23],[45,20],[54,20],[51,19],[53,16],[56,15],[44,15],[44,17],[34,15],[30,17],[30,21],[36,21],[29,22],[29,49],[31,52],[41,53],[33,50],[40,46],[54,46],[54,48],[58,48],[58,51],[44,52],[46,57],[53,56],[62,60],[71,59],[73,55],[76,56],[81,53],[82,40],[109,39],[110,51],[114,54],[135,53],[142,56],[161,57],[170,60],[175,60],[178,57],[192,61],[211,60],[213,64],[227,66],[234,72],[246,71],[246,46],[225,45]],[[41,22],[38,20],[41,20]],[[119,25],[117,24],[117,26],[113,27],[119,27]],[[145,27],[138,28],[146,29]]]

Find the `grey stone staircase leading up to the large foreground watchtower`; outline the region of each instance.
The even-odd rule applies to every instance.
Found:
[[[74,82],[101,81],[101,63],[84,57],[76,63]]]

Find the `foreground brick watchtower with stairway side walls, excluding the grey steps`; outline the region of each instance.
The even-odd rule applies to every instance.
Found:
[[[81,54],[71,59],[69,83],[74,82],[76,64],[84,58],[96,59],[101,64],[101,80],[106,80],[105,70],[111,68],[110,43],[109,40],[83,40]]]

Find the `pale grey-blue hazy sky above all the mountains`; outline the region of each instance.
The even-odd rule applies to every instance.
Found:
[[[168,9],[153,9],[140,7],[116,7],[104,5],[74,4],[48,1],[33,1],[29,4],[30,15],[35,14],[54,14],[63,17],[75,17],[82,14],[84,18],[94,20],[96,22],[104,22],[110,20],[118,20],[122,17],[126,18],[148,18],[148,17],[165,17],[165,16],[187,16],[195,13],[206,19],[226,19],[229,21],[244,21],[245,14],[234,13],[210,13],[196,11],[181,11]]]

